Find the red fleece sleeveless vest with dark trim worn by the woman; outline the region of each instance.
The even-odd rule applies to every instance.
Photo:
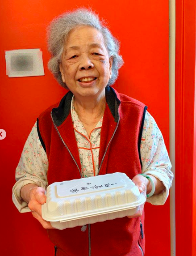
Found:
[[[138,140],[145,105],[110,89],[110,94],[115,93],[115,97],[121,101],[119,105],[120,122],[108,146],[99,175],[124,172],[132,179],[142,172]],[[38,118],[38,133],[42,143],[46,146],[46,154],[49,160],[47,173],[49,184],[81,178],[79,152],[71,113],[57,128],[73,158],[75,158],[79,169],[71,154],[63,145],[50,116],[53,107],[58,107],[58,105],[59,103],[48,108]],[[115,105],[113,109],[117,113],[117,100],[113,102],[113,105]],[[110,108],[107,102],[101,128],[99,164],[117,127],[117,120],[114,119],[114,114],[111,111],[111,102],[109,106]],[[141,218],[129,219],[125,217],[97,222],[88,225],[84,232],[81,231],[81,226],[77,226],[65,230],[48,230],[48,234],[50,240],[57,247],[57,256],[142,256],[144,255],[145,238],[142,239],[140,219],[144,224],[144,213]]]

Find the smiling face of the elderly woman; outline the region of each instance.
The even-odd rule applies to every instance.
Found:
[[[65,43],[60,64],[63,82],[75,97],[99,96],[112,75],[112,62],[102,34],[89,26],[78,27]]]

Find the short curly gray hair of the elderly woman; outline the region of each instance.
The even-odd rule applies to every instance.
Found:
[[[51,55],[48,62],[49,70],[58,83],[67,89],[67,85],[61,77],[59,64],[61,63],[64,43],[70,31],[78,26],[91,26],[103,34],[108,55],[113,57],[112,77],[108,81],[108,85],[113,85],[118,77],[119,68],[124,64],[122,56],[119,54],[120,42],[109,31],[106,22],[103,19],[100,20],[99,16],[92,9],[79,8],[63,13],[51,21],[47,28],[48,50]]]

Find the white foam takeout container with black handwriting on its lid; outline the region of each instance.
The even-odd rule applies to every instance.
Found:
[[[131,216],[146,201],[121,172],[55,182],[46,197],[42,218],[59,230]]]

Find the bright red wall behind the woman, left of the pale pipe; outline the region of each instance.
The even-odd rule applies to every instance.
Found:
[[[72,2],[72,1],[70,1]],[[53,256],[47,232],[31,213],[19,213],[12,202],[15,169],[25,140],[38,115],[65,94],[47,69],[46,25],[64,11],[80,7],[63,0],[7,0],[0,9],[0,141],[1,253],[14,256]],[[125,65],[114,87],[144,102],[169,147],[168,1],[83,0],[107,19],[121,41]],[[45,76],[8,78],[4,50],[42,48]],[[169,201],[146,203],[146,256],[170,255]]]

